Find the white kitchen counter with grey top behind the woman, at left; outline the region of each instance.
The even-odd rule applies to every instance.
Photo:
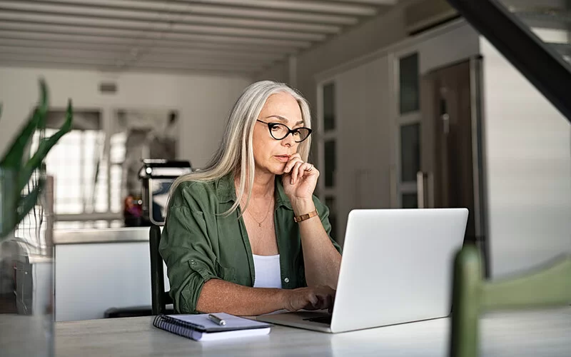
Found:
[[[150,311],[148,230],[54,230],[56,321],[103,318],[108,308],[147,306]],[[166,266],[164,274],[168,291]]]

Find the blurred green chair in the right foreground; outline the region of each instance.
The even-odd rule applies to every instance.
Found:
[[[478,316],[484,311],[565,306],[571,302],[569,255],[533,273],[500,281],[482,280],[481,266],[475,246],[464,246],[455,257],[451,357],[477,356]]]

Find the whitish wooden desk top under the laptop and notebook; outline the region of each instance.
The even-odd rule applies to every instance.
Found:
[[[151,317],[56,323],[56,356],[446,356],[448,319],[331,335],[274,326],[270,335],[196,342]],[[571,356],[571,307],[493,313],[480,321],[481,356]]]

